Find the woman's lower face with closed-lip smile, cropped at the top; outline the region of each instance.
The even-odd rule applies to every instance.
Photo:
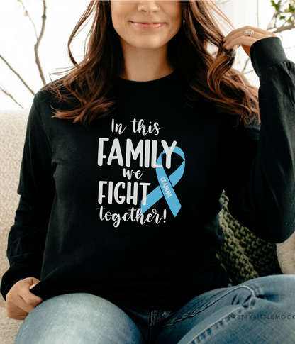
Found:
[[[166,45],[182,25],[180,1],[111,0],[113,28],[122,48],[156,49]],[[140,23],[161,23],[148,26]]]

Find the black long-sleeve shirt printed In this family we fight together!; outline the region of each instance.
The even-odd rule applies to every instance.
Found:
[[[260,78],[261,126],[228,126],[206,101],[183,98],[177,70],[150,82],[118,80],[119,105],[88,128],[51,118],[50,94],[28,117],[6,299],[40,279],[43,299],[89,292],[146,308],[177,309],[228,276],[216,259],[223,189],[229,210],[280,243],[295,230],[295,64],[281,40],[250,50]],[[64,104],[65,108],[67,107]]]

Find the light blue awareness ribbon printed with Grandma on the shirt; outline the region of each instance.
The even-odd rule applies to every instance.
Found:
[[[169,147],[170,149],[171,147]],[[165,197],[165,201],[172,211],[174,217],[177,216],[182,205],[179,203],[177,195],[174,192],[173,187],[179,182],[184,174],[184,166],[185,166],[185,157],[184,152],[179,147],[175,147],[172,154],[176,153],[184,160],[182,164],[175,170],[169,177],[167,176],[164,167],[156,167],[156,174],[157,180],[159,182],[159,186],[156,187],[150,194],[146,197],[146,204],[143,205],[143,201],[141,201],[141,213],[145,213],[151,206],[153,206],[157,201]],[[165,150],[161,152],[159,157],[157,158],[157,165],[162,165],[162,155],[165,154]]]

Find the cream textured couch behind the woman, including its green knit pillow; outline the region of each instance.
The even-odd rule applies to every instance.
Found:
[[[16,189],[27,119],[27,110],[0,111],[0,279],[9,268],[6,246],[19,201]],[[295,234],[279,245],[266,243],[230,215],[224,193],[222,201],[219,218],[225,243],[217,255],[228,271],[230,282],[235,285],[267,274],[295,274]],[[22,322],[6,316],[5,302],[0,296],[0,344],[14,343]]]

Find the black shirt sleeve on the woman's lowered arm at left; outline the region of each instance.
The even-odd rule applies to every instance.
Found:
[[[40,279],[48,222],[55,195],[51,149],[47,134],[33,101],[26,128],[20,179],[18,209],[8,238],[9,270],[1,280],[6,300],[9,289],[26,277]]]

